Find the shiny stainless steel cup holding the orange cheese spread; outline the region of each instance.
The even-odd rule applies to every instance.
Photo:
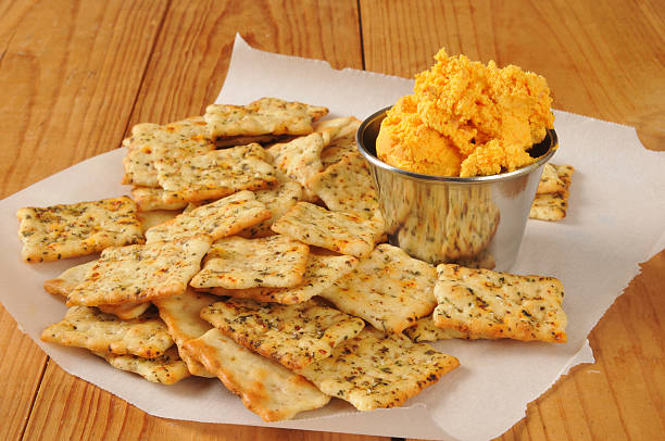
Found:
[[[388,239],[423,261],[509,269],[517,259],[531,202],[556,133],[529,153],[534,164],[515,172],[469,178],[423,175],[393,167],[376,156],[376,137],[386,111],[361,124],[359,149],[369,162]]]

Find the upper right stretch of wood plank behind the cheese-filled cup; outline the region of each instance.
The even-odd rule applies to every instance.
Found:
[[[635,126],[665,150],[665,12],[639,3],[362,0],[365,67],[403,77],[446,47],[548,78],[554,108]]]

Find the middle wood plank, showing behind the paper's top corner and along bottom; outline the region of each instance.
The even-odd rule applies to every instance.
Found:
[[[315,2],[174,2],[166,13],[136,108],[138,122],[165,123],[204,111],[222,88],[236,29],[263,50],[362,67],[353,0]],[[316,5],[316,7],[315,7]],[[242,7],[242,8],[241,8]],[[117,137],[117,142],[122,136]],[[156,418],[49,364],[26,439],[344,440],[380,437],[206,425]]]

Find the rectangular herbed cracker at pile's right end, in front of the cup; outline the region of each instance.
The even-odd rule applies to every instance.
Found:
[[[553,277],[519,276],[441,264],[435,325],[470,338],[566,341],[563,286]]]

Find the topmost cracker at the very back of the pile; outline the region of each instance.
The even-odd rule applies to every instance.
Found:
[[[214,139],[231,136],[306,135],[326,108],[262,98],[248,105],[212,104],[204,118]]]

